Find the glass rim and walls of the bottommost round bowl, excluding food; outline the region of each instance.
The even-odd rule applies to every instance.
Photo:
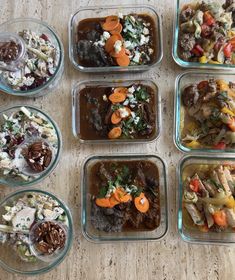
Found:
[[[16,200],[22,199],[25,196],[32,197],[33,195],[42,195],[42,196],[49,196],[51,200],[54,200],[57,204],[58,207],[62,208],[65,214],[66,220],[65,220],[65,226],[66,226],[66,242],[63,247],[63,249],[60,251],[60,254],[56,255],[55,258],[53,256],[51,258],[48,258],[47,260],[42,260],[42,258],[38,258],[36,255],[36,258],[33,257],[33,261],[25,261],[20,258],[18,253],[21,253],[17,251],[16,247],[13,247],[13,244],[18,245],[6,241],[5,243],[2,243],[1,238],[2,238],[2,232],[0,230],[0,265],[13,273],[18,273],[18,274],[27,274],[27,275],[38,275],[41,273],[48,272],[52,269],[54,269],[58,264],[60,264],[63,259],[66,257],[68,254],[71,245],[72,245],[72,240],[73,240],[73,222],[72,222],[72,216],[70,213],[70,210],[66,206],[66,204],[58,199],[56,196],[53,194],[42,191],[39,189],[32,189],[32,188],[27,188],[23,189],[14,193],[11,193],[9,196],[4,198],[0,202],[0,224],[4,222],[2,215],[6,214],[8,207],[12,206],[13,203]],[[37,216],[37,212],[36,212]],[[29,230],[30,232],[30,230]],[[11,237],[13,238],[13,237]],[[26,235],[26,238],[29,238],[29,233]],[[24,255],[27,256],[25,253]]]

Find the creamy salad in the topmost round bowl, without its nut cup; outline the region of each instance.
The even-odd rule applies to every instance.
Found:
[[[49,35],[30,29],[19,31],[18,35],[25,44],[25,56],[16,71],[0,71],[0,77],[13,90],[32,90],[45,84],[55,74],[60,52]],[[9,48],[5,51],[9,52]]]

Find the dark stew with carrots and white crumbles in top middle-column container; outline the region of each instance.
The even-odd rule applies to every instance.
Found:
[[[87,18],[78,23],[76,44],[83,67],[151,64],[157,56],[155,22],[134,13]]]

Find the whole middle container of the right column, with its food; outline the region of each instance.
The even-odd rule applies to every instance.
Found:
[[[182,152],[234,152],[234,74],[188,71],[175,82],[174,142]]]

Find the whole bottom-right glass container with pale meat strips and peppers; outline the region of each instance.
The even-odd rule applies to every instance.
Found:
[[[178,230],[186,242],[234,244],[234,158],[186,156],[178,165]]]

